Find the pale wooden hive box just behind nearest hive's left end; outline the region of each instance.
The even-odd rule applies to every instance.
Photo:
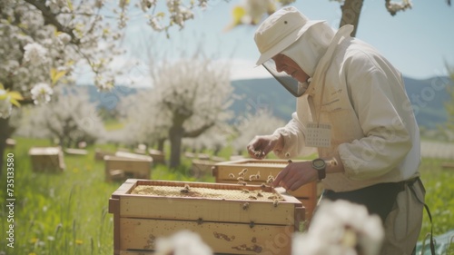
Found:
[[[105,181],[125,181],[129,178],[150,179],[152,158],[104,156]]]

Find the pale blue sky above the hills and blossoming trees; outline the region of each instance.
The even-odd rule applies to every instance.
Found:
[[[145,57],[150,51],[156,59],[179,58],[201,48],[208,56],[232,63],[232,80],[271,77],[261,66],[255,66],[259,52],[253,34],[257,26],[242,25],[224,31],[232,23],[232,8],[241,4],[242,0],[211,0],[205,11],[195,12],[183,30],[171,28],[169,39],[153,32],[137,13],[123,40],[128,54],[117,64],[132,60],[142,64],[129,71],[123,81],[150,83],[149,60]],[[410,10],[391,16],[384,4],[385,0],[364,1],[356,37],[372,44],[407,77],[448,75],[446,64],[454,66],[454,6],[447,5],[446,0],[414,0]],[[332,27],[339,27],[339,2],[297,0],[292,5],[310,19],[326,20]]]

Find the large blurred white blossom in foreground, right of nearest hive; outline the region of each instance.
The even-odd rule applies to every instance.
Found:
[[[380,217],[349,201],[322,201],[306,233],[292,241],[292,255],[376,255],[384,230]]]

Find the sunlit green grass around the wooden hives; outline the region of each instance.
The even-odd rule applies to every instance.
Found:
[[[113,254],[113,217],[108,213],[108,200],[120,183],[104,181],[104,162],[94,160],[94,148],[86,156],[64,156],[64,172],[32,172],[28,149],[47,146],[47,141],[16,139],[14,149],[15,186],[14,214],[6,205],[6,171],[1,178],[0,254]],[[98,146],[100,147],[100,146]],[[112,146],[104,150],[114,152]],[[10,154],[10,155],[12,155]],[[433,217],[434,234],[454,229],[454,169],[443,169],[445,161],[424,159],[422,180],[427,189],[427,203]],[[164,166],[153,166],[152,179],[172,181],[214,181],[211,174],[195,179],[188,176],[191,163],[170,172]],[[9,243],[8,215],[14,217],[14,249]],[[430,231],[425,213],[420,239]],[[2,253],[4,252],[4,253]]]

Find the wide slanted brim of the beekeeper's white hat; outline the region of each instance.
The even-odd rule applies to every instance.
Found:
[[[256,65],[261,65],[269,60],[271,57],[280,54],[283,50],[295,43],[302,34],[304,34],[312,25],[325,22],[324,20],[311,20],[301,27],[300,30],[295,30],[291,34],[285,36],[279,43],[275,44],[268,51],[262,53],[257,61]]]

